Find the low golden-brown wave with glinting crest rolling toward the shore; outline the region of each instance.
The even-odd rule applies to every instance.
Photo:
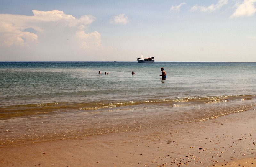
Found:
[[[141,101],[127,101],[127,102],[53,102],[42,104],[24,104],[11,105],[0,107],[0,119],[33,117],[35,115],[53,114],[61,112],[99,112],[105,109],[122,109],[124,107],[133,108],[133,106],[146,105],[147,107],[153,105],[167,105],[169,107],[179,107],[195,104],[210,104],[230,102],[232,100],[252,100],[256,95],[223,95],[223,96],[209,96],[209,97],[183,97],[171,99],[148,99]]]

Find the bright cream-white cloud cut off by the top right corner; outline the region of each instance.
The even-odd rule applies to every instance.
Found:
[[[231,17],[251,16],[256,12],[255,2],[256,0],[244,0],[242,4],[236,4],[236,11]]]

